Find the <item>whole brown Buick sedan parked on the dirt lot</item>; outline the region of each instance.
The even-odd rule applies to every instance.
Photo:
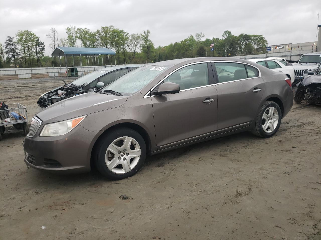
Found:
[[[291,107],[291,80],[256,63],[158,62],[39,112],[24,162],[51,172],[89,172],[95,164],[104,176],[124,179],[146,155],[237,132],[272,137]]]

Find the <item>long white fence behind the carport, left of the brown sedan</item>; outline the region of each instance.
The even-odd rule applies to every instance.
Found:
[[[138,65],[141,66],[141,64],[132,64],[132,65]],[[126,65],[116,65],[118,66],[126,66]],[[99,70],[102,68],[109,68],[109,67],[115,67],[114,66],[82,66],[82,67],[76,67],[78,68],[78,75],[82,76],[84,75],[84,72],[91,72],[95,70]],[[71,68],[71,67],[68,67]],[[19,78],[30,78],[31,74],[46,74],[48,73],[49,77],[57,77],[59,73],[65,73],[66,67],[55,67],[55,68],[1,68],[0,69],[0,76],[1,75],[18,75]]]

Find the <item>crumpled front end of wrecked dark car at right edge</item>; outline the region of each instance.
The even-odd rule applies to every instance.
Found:
[[[293,100],[302,105],[321,106],[321,75],[306,76],[297,84]]]

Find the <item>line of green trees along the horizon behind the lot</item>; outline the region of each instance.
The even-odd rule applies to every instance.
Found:
[[[143,33],[129,34],[114,26],[105,26],[91,31],[87,28],[69,26],[65,29],[66,38],[59,37],[56,28],[50,28],[46,35],[49,40],[50,50],[56,47],[103,47],[116,52],[116,56],[103,56],[104,64],[138,64],[151,63],[164,60],[221,56],[233,57],[240,55],[262,54],[266,51],[267,41],[262,35],[241,34],[234,36],[230,31],[225,31],[221,38],[205,38],[203,33],[190,35],[186,39],[155,48],[149,30]],[[205,39],[204,39],[205,38]],[[204,39],[204,40],[203,40]],[[214,47],[210,47],[214,44]],[[0,68],[49,67],[52,58],[44,55],[45,45],[34,33],[29,30],[19,30],[15,37],[8,36],[4,45],[0,43]],[[101,58],[101,57],[100,57]],[[116,59],[115,59],[116,58]],[[83,65],[91,66],[95,60],[83,59]],[[75,65],[80,64],[80,59],[75,58]],[[67,58],[68,66],[70,65]],[[65,67],[64,58],[60,64]],[[54,58],[54,66],[59,62]]]

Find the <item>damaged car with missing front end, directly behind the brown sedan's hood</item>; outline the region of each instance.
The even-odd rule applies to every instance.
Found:
[[[68,84],[63,80],[65,83],[64,86],[42,94],[37,101],[37,104],[41,109],[44,109],[66,98],[71,98],[87,92],[93,92],[139,67],[140,66],[138,65],[108,67],[84,75]]]

